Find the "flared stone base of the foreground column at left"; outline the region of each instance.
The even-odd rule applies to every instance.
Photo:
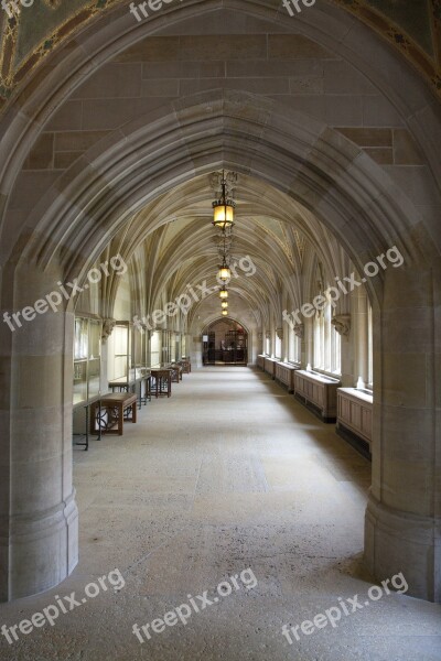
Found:
[[[41,517],[11,521],[8,599],[29,597],[58,585],[78,563],[75,490]]]

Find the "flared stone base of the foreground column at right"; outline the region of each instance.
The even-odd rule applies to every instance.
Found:
[[[441,603],[441,519],[390,509],[370,494],[364,557],[377,581],[401,572],[406,594]]]

